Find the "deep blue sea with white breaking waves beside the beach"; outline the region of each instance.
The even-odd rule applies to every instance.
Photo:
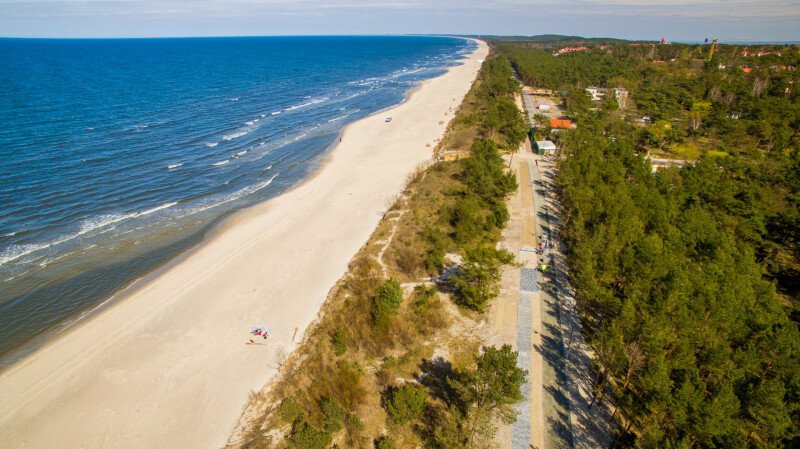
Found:
[[[306,177],[444,37],[0,39],[0,355]]]

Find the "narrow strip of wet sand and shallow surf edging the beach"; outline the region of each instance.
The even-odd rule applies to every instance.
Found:
[[[472,38],[463,38],[462,37],[461,39],[469,40],[469,41],[472,41],[472,42],[478,42],[477,40],[472,39]],[[468,57],[469,57],[469,55],[465,55],[465,57],[463,59],[456,61],[456,65],[460,65],[463,61],[466,61],[468,59]],[[439,76],[437,76],[435,78],[429,78],[429,79],[423,80],[422,82],[420,82],[416,86],[414,86],[411,89],[409,89],[409,91],[406,92],[406,94],[403,96],[403,99],[399,103],[397,103],[395,105],[392,105],[392,106],[389,106],[389,107],[386,107],[386,108],[383,108],[383,109],[380,109],[380,110],[377,110],[377,111],[375,111],[375,112],[373,112],[373,113],[371,113],[371,114],[369,114],[369,115],[367,115],[365,117],[362,117],[359,120],[356,120],[354,122],[348,123],[346,126],[344,126],[337,133],[337,140],[334,140],[330,145],[328,145],[327,148],[325,148],[323,151],[321,151],[318,155],[316,155],[313,159],[311,159],[309,161],[309,171],[308,171],[308,173],[306,174],[306,176],[303,179],[301,179],[296,184],[290,186],[288,189],[286,189],[283,192],[277,194],[273,198],[269,198],[269,199],[267,199],[265,201],[249,205],[249,206],[244,207],[242,209],[235,210],[235,211],[226,213],[226,214],[224,214],[224,215],[222,215],[220,217],[215,218],[209,224],[205,225],[206,229],[202,232],[202,235],[199,236],[200,241],[198,241],[197,243],[192,244],[190,246],[187,246],[186,248],[181,250],[179,253],[175,254],[167,262],[152,268],[147,273],[144,273],[143,275],[141,275],[141,276],[139,276],[139,277],[137,277],[135,279],[132,279],[130,282],[128,282],[127,285],[124,285],[122,288],[120,288],[119,290],[114,292],[111,296],[103,299],[102,301],[94,304],[93,306],[81,311],[80,313],[78,313],[78,314],[76,314],[76,315],[74,315],[72,317],[66,318],[63,322],[55,325],[54,328],[55,327],[59,327],[60,328],[60,329],[52,329],[51,330],[53,332],[57,332],[56,335],[49,336],[47,332],[45,332],[43,334],[39,334],[39,335],[33,337],[31,340],[29,340],[29,341],[23,343],[22,345],[18,346],[17,348],[14,348],[11,352],[0,356],[0,378],[2,377],[3,373],[9,371],[11,368],[14,367],[14,365],[16,365],[18,363],[21,363],[21,362],[24,362],[24,360],[27,357],[30,357],[30,356],[34,355],[36,352],[38,352],[38,351],[46,348],[47,346],[57,342],[59,339],[69,335],[71,332],[76,331],[81,326],[84,326],[85,324],[90,322],[92,319],[94,319],[98,315],[102,314],[103,311],[107,310],[108,308],[114,307],[117,302],[124,301],[127,297],[135,295],[137,293],[138,289],[140,289],[141,287],[145,286],[148,282],[152,282],[154,279],[158,278],[160,275],[164,274],[168,270],[170,270],[170,269],[174,268],[175,266],[177,266],[178,264],[182,263],[189,256],[191,256],[194,252],[199,251],[200,249],[202,249],[202,247],[207,245],[211,240],[213,240],[220,233],[225,232],[226,230],[228,230],[229,229],[228,224],[230,222],[234,221],[234,220],[237,220],[237,217],[239,217],[240,215],[246,214],[251,209],[255,209],[255,208],[258,208],[258,207],[263,207],[263,206],[267,205],[268,203],[270,203],[271,201],[275,200],[276,198],[278,198],[278,197],[280,197],[282,195],[288,194],[291,191],[302,187],[305,183],[310,182],[314,177],[316,177],[319,174],[319,172],[321,170],[323,170],[325,168],[325,166],[328,163],[329,158],[336,151],[336,147],[339,145],[341,140],[344,138],[344,135],[347,132],[348,128],[350,128],[351,126],[353,126],[354,124],[356,124],[356,123],[358,123],[358,122],[360,122],[362,120],[371,118],[371,117],[379,115],[379,114],[383,114],[383,113],[385,113],[387,111],[390,111],[390,110],[392,110],[394,108],[397,108],[398,106],[406,103],[407,101],[409,101],[414,96],[414,94],[420,88],[422,88],[422,86],[425,83],[427,83],[430,80],[436,79],[438,77],[444,76],[445,74],[447,74],[447,72],[452,67],[455,67],[455,66],[445,66],[445,67],[443,67],[445,73],[443,73],[443,74],[441,74],[441,75],[439,75]]]

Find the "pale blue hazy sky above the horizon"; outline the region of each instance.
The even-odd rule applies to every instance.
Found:
[[[800,0],[0,0],[0,36],[574,34],[800,40]]]

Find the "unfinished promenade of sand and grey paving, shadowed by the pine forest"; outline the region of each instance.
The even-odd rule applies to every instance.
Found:
[[[520,184],[518,364],[529,372],[524,403],[512,426],[513,448],[607,447],[609,411],[591,401],[592,353],[583,341],[559,239],[559,205],[552,194],[552,161],[529,144],[514,158]],[[541,239],[540,242],[540,238]],[[537,254],[539,243],[554,248]],[[545,273],[537,270],[547,264]]]

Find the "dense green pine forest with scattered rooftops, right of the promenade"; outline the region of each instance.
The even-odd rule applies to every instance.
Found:
[[[569,45],[497,49],[577,123],[556,181],[614,446],[798,447],[798,47]]]

